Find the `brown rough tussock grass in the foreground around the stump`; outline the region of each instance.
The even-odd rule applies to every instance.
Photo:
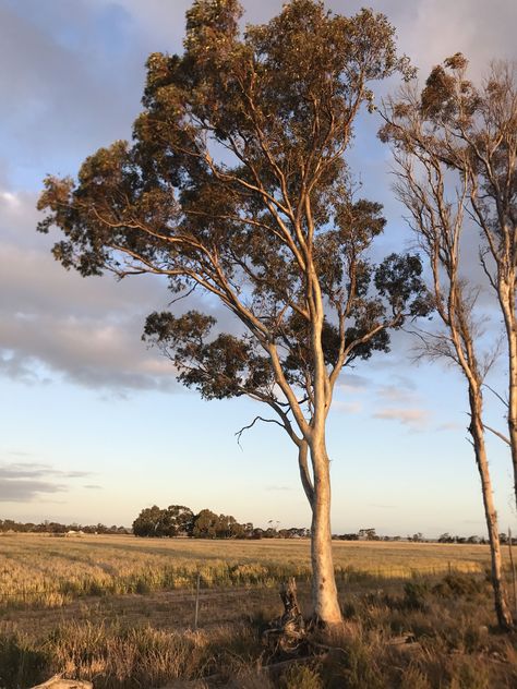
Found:
[[[218,624],[231,603],[229,590],[199,631],[122,618],[72,620],[39,636],[14,626],[0,631],[0,686],[21,689],[63,672],[93,680],[96,689],[153,689],[178,678],[207,689],[515,689],[517,634],[491,626],[482,576],[370,584],[341,589],[346,624],[320,632],[314,641],[322,654],[311,658],[269,667],[278,658],[266,654],[261,633],[275,606],[253,616],[236,612],[231,624]],[[399,639],[409,643],[394,644]]]

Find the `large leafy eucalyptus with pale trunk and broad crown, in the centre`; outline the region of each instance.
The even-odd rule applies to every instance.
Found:
[[[298,448],[312,510],[314,615],[341,620],[330,542],[325,425],[342,367],[388,348],[387,328],[426,313],[417,256],[375,266],[381,206],[353,197],[345,154],[369,84],[408,73],[382,14],[292,0],[239,29],[237,0],[196,0],[182,56],[147,62],[134,142],[86,159],[77,183],[48,178],[41,231],[82,275],[168,276],[201,288],[243,335],[189,311],[152,314],[144,337],[206,399],[263,402]],[[252,425],[252,424],[251,424]]]

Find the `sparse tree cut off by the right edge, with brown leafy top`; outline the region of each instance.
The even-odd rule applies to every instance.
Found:
[[[494,62],[481,86],[468,80],[460,53],[431,72],[422,92],[413,144],[465,185],[469,219],[483,238],[480,261],[496,295],[507,343],[507,409],[517,500],[517,77],[515,64]],[[408,123],[408,118],[402,117]],[[409,128],[405,129],[409,132]]]

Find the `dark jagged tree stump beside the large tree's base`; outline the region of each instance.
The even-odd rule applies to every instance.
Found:
[[[306,630],[297,599],[297,583],[291,577],[280,584],[284,615],[274,620],[263,634],[273,654],[300,655],[306,646]]]

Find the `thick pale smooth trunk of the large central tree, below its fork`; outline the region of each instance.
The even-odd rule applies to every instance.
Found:
[[[332,553],[329,461],[323,432],[322,436],[312,442],[310,448],[314,473],[314,497],[311,505],[312,602],[315,621],[333,627],[341,624],[342,617]]]

